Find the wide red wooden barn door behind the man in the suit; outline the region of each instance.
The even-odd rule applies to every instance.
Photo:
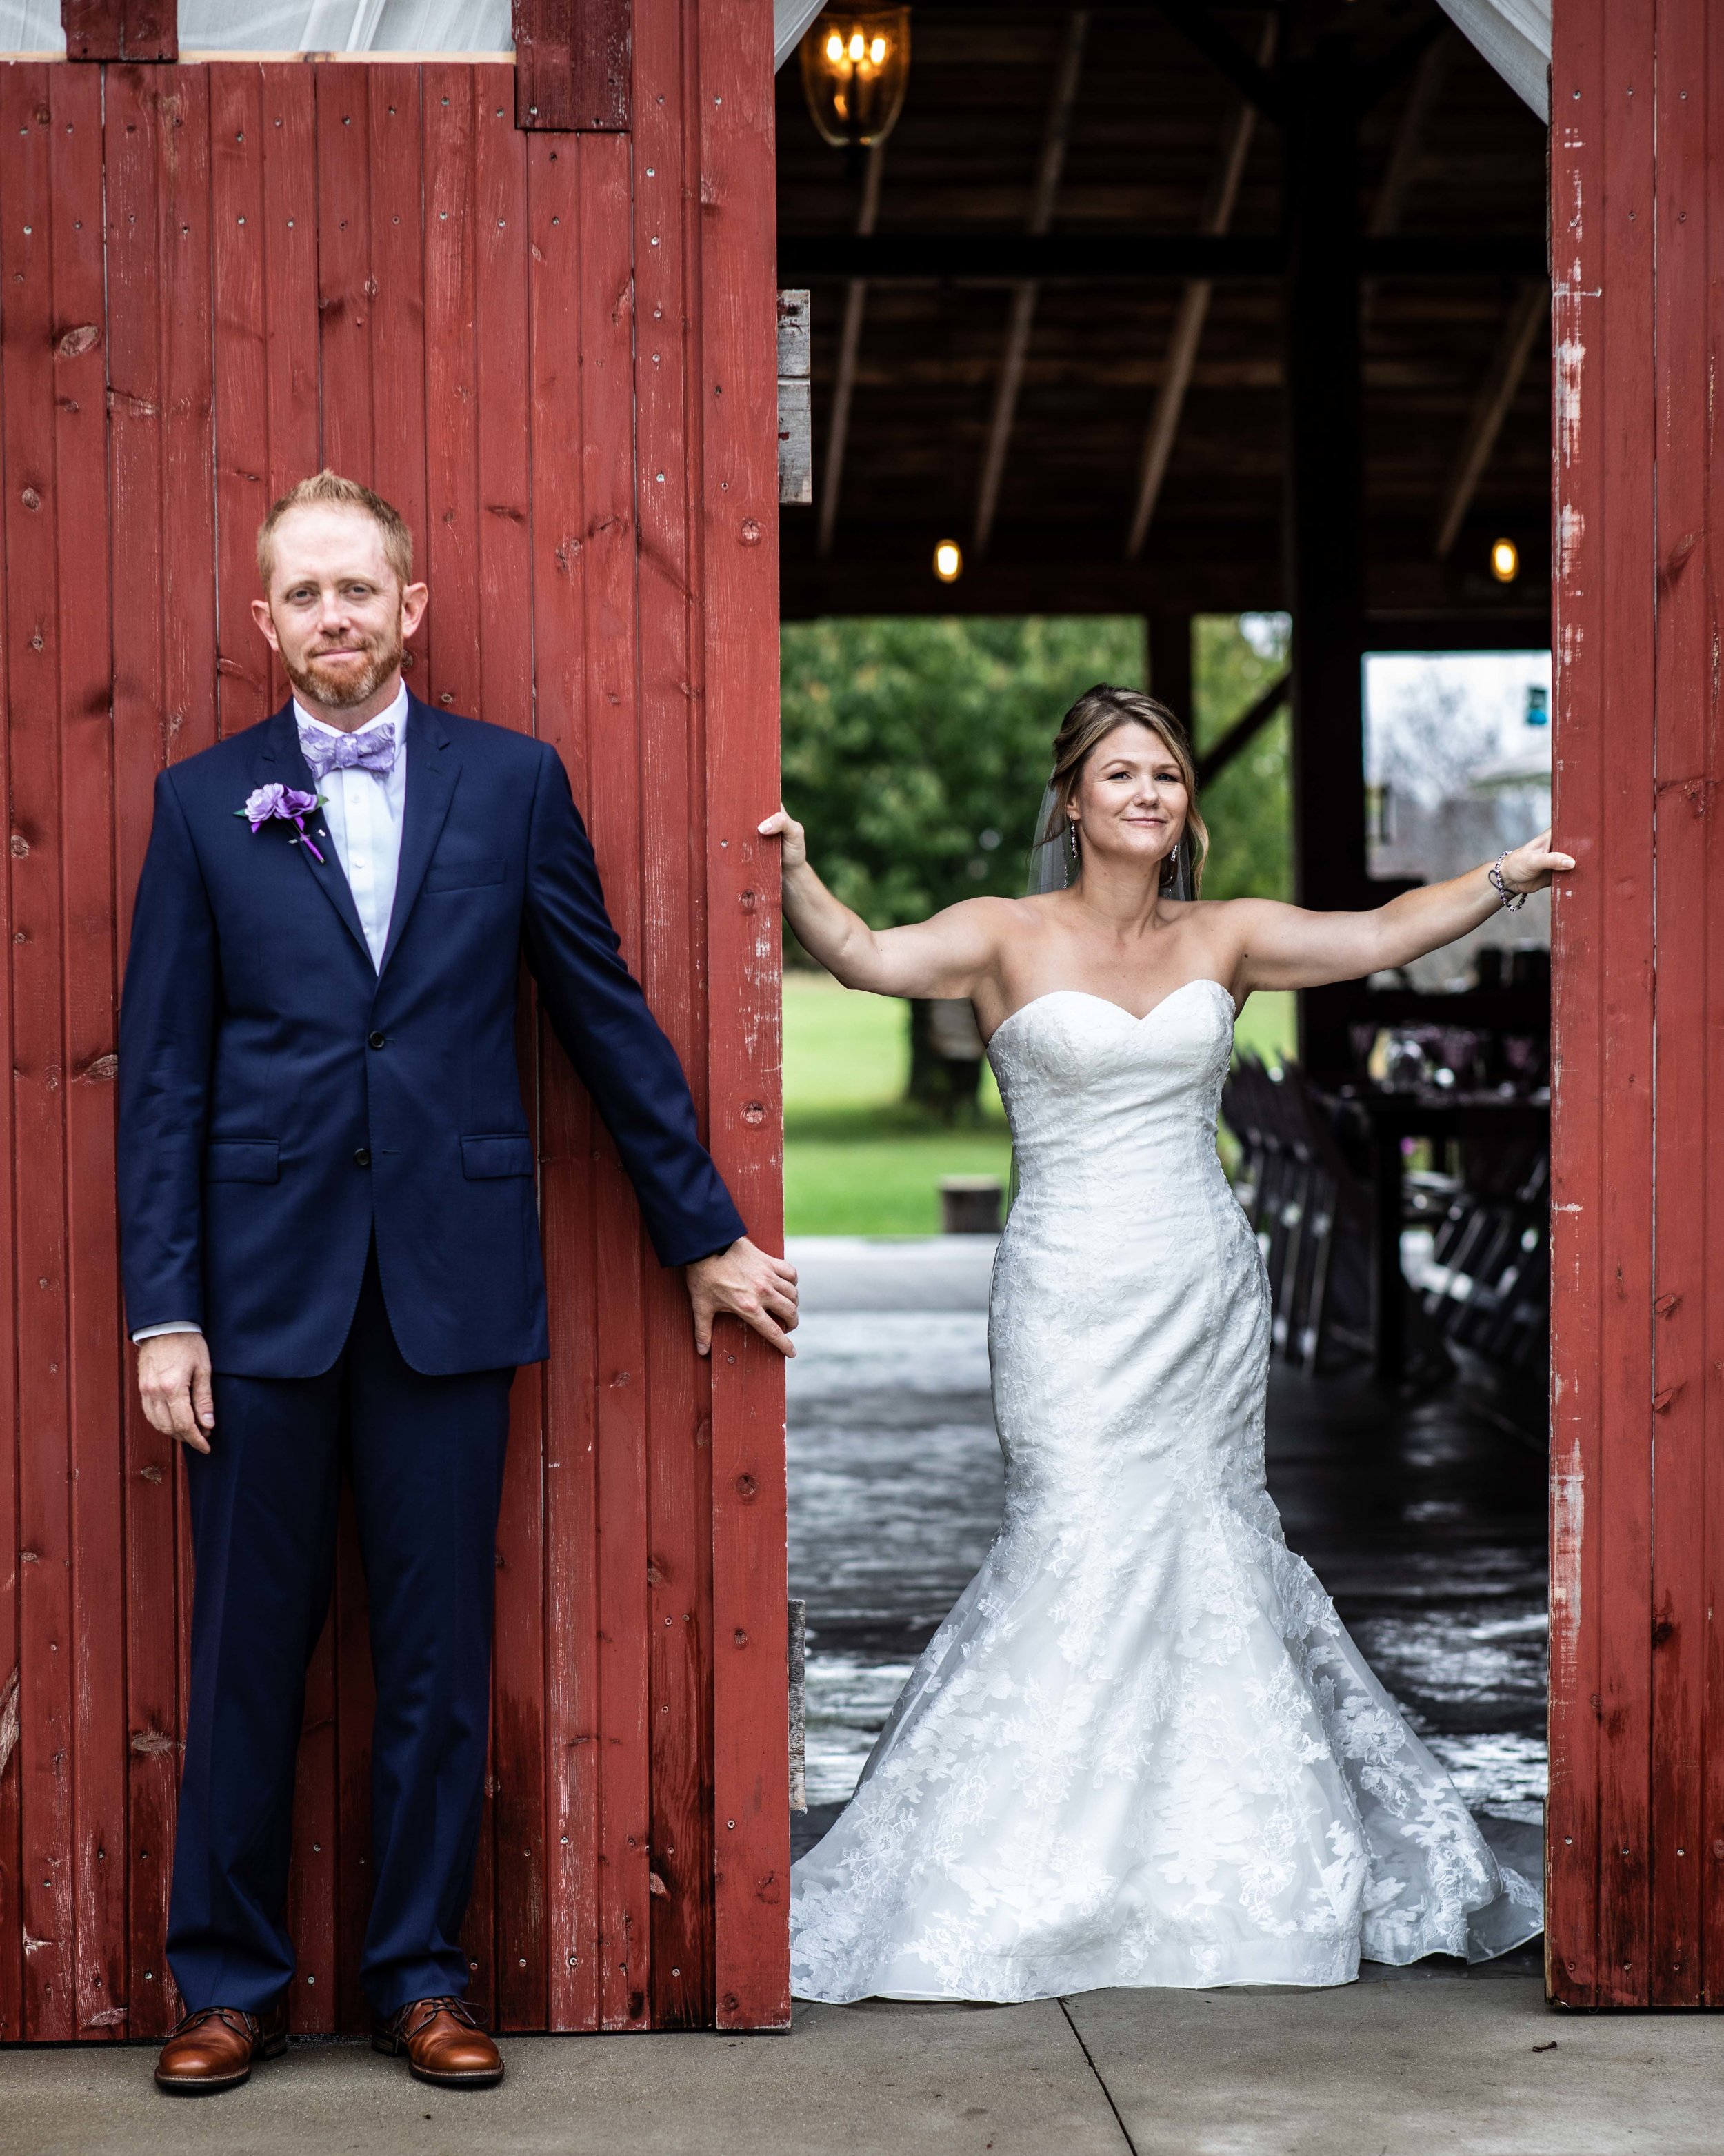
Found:
[[[190,1546],[121,1343],[116,977],[157,765],[282,694],[252,537],[300,474],[409,517],[414,688],[556,742],[720,1166],[780,1229],[765,0],[634,0],[627,101],[634,132],[524,134],[509,65],[0,69],[4,2040],[177,2014]],[[472,1990],[502,2029],[778,2024],[778,1358],[724,1328],[696,1360],[522,1028],[554,1354],[515,1393]],[[366,2012],[366,1654],[349,1539],[300,1757],[300,2029]]]

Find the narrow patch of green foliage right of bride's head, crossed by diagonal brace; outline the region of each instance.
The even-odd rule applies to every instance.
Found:
[[[1202,750],[1218,742],[1284,666],[1287,630],[1278,617],[1246,617],[1241,627],[1231,614],[1202,614],[1192,651],[1196,746]],[[1287,746],[1282,711],[1202,796],[1207,899],[1293,897]]]

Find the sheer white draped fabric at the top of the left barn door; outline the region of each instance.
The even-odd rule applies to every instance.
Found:
[[[825,0],[774,0],[782,67]],[[181,52],[509,52],[509,0],[181,0]],[[60,0],[0,0],[0,52],[65,52]]]

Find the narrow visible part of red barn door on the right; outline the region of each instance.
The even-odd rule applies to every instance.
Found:
[[[1724,2003],[1724,15],[1556,0],[1552,1996]]]

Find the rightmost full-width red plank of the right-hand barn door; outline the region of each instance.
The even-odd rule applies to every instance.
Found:
[[[1707,11],[1657,41],[1657,1147],[1653,1279],[1651,1953],[1657,2005],[1700,1996],[1707,1660],[1705,1279],[1709,735],[1715,724],[1709,459]],[[1698,1291],[1696,1291],[1698,1289]]]

